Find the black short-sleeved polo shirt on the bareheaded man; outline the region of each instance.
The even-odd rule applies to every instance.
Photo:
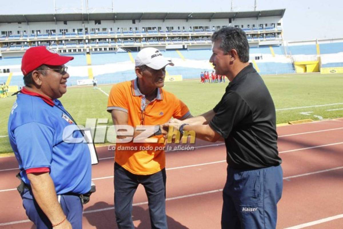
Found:
[[[229,83],[213,111],[210,127],[225,139],[231,167],[258,169],[281,164],[275,106],[251,63]]]

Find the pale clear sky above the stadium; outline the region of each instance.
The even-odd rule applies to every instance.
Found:
[[[81,8],[86,0],[55,0],[57,8]],[[231,0],[113,0],[115,12],[227,12]],[[233,0],[233,11],[252,11],[254,0]],[[28,4],[29,3],[29,4]],[[0,0],[0,14],[54,13],[54,0]],[[112,0],[88,0],[89,12],[111,12]],[[107,9],[105,9],[107,8]],[[286,9],[284,39],[303,41],[343,38],[342,0],[257,0],[256,10]],[[59,10],[71,13],[73,10]],[[81,12],[81,10],[76,10]]]

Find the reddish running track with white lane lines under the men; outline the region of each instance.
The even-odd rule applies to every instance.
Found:
[[[284,189],[277,228],[343,228],[343,119],[277,128],[283,160]],[[226,179],[225,146],[198,142],[194,151],[169,151],[167,218],[170,229],[220,228],[222,188]],[[204,147],[205,146],[205,147]],[[85,205],[83,228],[117,228],[113,208],[113,156],[98,148],[93,166],[97,192]],[[21,204],[14,157],[0,158],[0,229],[34,228]],[[134,196],[137,228],[150,228],[144,189]]]

